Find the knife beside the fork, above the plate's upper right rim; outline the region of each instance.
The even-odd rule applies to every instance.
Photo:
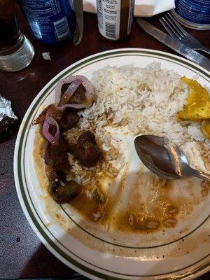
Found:
[[[160,29],[146,22],[146,20],[138,18],[137,22],[142,29],[144,29],[148,34],[156,38],[158,41],[167,45],[169,48],[172,48],[172,50],[175,50],[180,55],[183,55],[183,57],[190,59],[191,61],[210,71],[210,59],[204,57],[204,55],[200,55],[199,52],[189,48],[187,45],[184,45],[179,41],[179,39],[172,38],[171,36],[160,31]]]

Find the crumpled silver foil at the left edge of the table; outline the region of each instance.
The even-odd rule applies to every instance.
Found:
[[[0,133],[7,130],[15,120],[18,118],[12,110],[11,102],[0,95]]]

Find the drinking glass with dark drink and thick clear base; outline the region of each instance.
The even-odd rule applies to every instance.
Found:
[[[34,57],[34,47],[20,32],[15,16],[15,1],[0,0],[0,69],[19,71]]]

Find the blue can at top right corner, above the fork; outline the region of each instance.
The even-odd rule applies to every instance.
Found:
[[[210,29],[210,0],[175,0],[176,20],[193,29]]]

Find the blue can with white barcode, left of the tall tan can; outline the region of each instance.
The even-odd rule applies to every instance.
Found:
[[[31,33],[42,43],[66,41],[76,30],[73,0],[18,0]]]

